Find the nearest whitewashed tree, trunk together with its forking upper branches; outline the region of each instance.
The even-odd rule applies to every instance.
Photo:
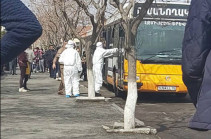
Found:
[[[146,15],[152,2],[153,0],[145,0],[139,15],[131,18],[130,11],[131,9],[134,10],[135,0],[110,0],[110,4],[117,8],[122,16],[122,25],[124,27],[126,37],[125,50],[128,55],[128,96],[124,110],[124,129],[127,130],[135,128],[135,108],[138,98],[136,83],[135,37],[138,26]],[[133,13],[133,11],[131,13]]]

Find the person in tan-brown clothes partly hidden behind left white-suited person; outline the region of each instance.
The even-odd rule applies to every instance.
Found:
[[[59,57],[61,56],[62,52],[66,49],[65,45],[67,44],[66,41],[64,41],[63,46],[57,51],[56,56],[53,59],[53,69],[56,69],[56,64],[59,60]],[[60,72],[61,72],[61,82],[59,84],[58,88],[58,95],[64,95],[65,89],[64,89],[64,63],[59,62]]]

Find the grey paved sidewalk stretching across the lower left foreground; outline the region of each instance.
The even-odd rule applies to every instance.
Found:
[[[106,133],[102,125],[123,120],[112,102],[75,102],[57,95],[58,81],[36,73],[31,89],[18,92],[19,75],[1,80],[1,139],[156,139],[153,135]],[[87,88],[80,86],[81,95]]]

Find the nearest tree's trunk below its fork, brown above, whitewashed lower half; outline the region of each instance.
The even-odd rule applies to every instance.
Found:
[[[135,128],[135,108],[137,102],[135,35],[128,23],[126,31],[126,45],[128,55],[128,95],[124,110],[124,129]]]

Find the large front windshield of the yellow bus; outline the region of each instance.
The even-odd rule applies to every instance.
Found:
[[[142,63],[181,64],[185,22],[143,21],[136,36],[136,57]]]

